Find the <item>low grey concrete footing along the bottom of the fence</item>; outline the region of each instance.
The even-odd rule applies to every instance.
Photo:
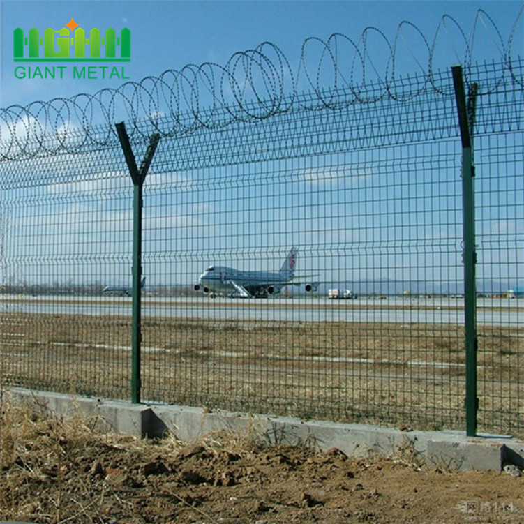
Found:
[[[97,416],[103,431],[140,437],[174,435],[193,440],[211,431],[251,431],[269,444],[308,445],[322,451],[336,447],[348,456],[409,454],[428,467],[451,470],[524,468],[524,442],[511,437],[466,437],[459,431],[401,431],[398,428],[303,421],[292,417],[209,412],[198,407],[104,401],[63,394],[13,389],[14,398],[34,401],[60,417]]]

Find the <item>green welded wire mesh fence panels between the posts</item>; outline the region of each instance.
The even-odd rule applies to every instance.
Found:
[[[523,307],[510,298],[524,254],[522,73],[518,60],[468,70],[479,428],[492,432],[523,428]],[[142,398],[463,428],[451,70],[235,107],[128,122],[137,160],[161,135],[144,183]],[[1,380],[128,399],[133,185],[114,128],[69,129],[59,144],[9,136]]]

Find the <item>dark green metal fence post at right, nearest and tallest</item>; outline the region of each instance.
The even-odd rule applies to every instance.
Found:
[[[477,434],[477,289],[475,283],[475,204],[474,204],[474,165],[472,131],[477,84],[472,84],[465,100],[461,66],[452,69],[455,88],[458,123],[462,141],[462,204],[463,204],[463,262],[464,262],[464,322],[466,356],[466,435]]]

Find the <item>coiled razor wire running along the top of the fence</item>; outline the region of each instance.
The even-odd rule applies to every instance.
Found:
[[[106,147],[116,143],[114,123],[119,120],[126,121],[131,139],[139,140],[151,132],[186,135],[290,110],[337,110],[384,98],[405,100],[423,89],[451,96],[450,82],[438,73],[449,69],[450,56],[463,64],[467,84],[479,82],[474,62],[491,58],[504,64],[491,84],[479,82],[480,95],[496,89],[508,75],[511,82],[524,86],[521,70],[511,66],[518,55],[515,38],[523,18],[524,6],[507,43],[491,17],[479,10],[469,36],[444,15],[431,42],[411,22],[399,24],[392,41],[375,27],[364,29],[357,41],[341,33],[326,41],[307,38],[296,73],[276,45],[264,42],[233,54],[224,66],[189,64],[93,95],[10,105],[0,110],[0,158]],[[481,46],[476,44],[479,40]],[[442,56],[446,63],[440,68]]]

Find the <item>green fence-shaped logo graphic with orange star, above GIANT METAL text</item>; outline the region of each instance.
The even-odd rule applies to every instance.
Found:
[[[108,27],[104,35],[93,27],[87,33],[73,18],[62,29],[48,27],[43,36],[36,28],[13,31],[13,60],[15,62],[129,62],[131,60],[131,31]]]

